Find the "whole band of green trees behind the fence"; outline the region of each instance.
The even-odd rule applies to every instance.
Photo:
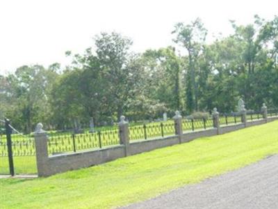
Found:
[[[63,129],[74,120],[88,125],[90,117],[104,125],[122,114],[140,121],[177,109],[231,112],[239,98],[247,109],[277,107],[278,17],[231,25],[233,34],[207,44],[201,20],[178,23],[172,46],[142,54],[131,52],[130,38],[101,33],[83,54],[66,52],[72,64],[63,69],[24,65],[0,75],[0,117],[31,132],[39,121]]]

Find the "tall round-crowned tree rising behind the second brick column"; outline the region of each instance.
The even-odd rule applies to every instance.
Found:
[[[115,106],[117,118],[122,116],[126,101],[133,97],[133,89],[140,77],[140,69],[131,68],[129,48],[132,41],[120,33],[101,33],[95,38],[97,59],[106,81],[108,102]]]

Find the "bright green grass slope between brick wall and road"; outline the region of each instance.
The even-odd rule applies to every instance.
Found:
[[[278,121],[79,171],[0,180],[1,208],[113,208],[278,153]]]

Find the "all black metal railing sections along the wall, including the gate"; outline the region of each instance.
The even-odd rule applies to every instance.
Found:
[[[247,111],[246,121],[255,121],[266,116],[266,111]],[[278,116],[278,109],[268,109],[268,117]],[[142,125],[129,125],[129,139],[163,139],[164,137],[175,135],[175,123],[173,120],[146,123]],[[180,123],[180,122],[179,122]],[[241,114],[220,114],[219,124],[232,125],[242,123]],[[213,118],[183,118],[181,127],[183,132],[194,132],[196,130],[206,130],[213,127]],[[179,124],[180,125],[180,124]],[[177,127],[179,129],[179,127]],[[13,150],[16,173],[35,173],[35,141],[32,135],[11,134],[13,140],[9,147]],[[6,135],[0,135],[0,173],[7,173],[9,157]],[[120,144],[119,128],[108,130],[98,130],[96,132],[86,132],[82,134],[72,134],[71,132],[50,132],[48,135],[48,153],[57,155],[60,153],[74,153],[82,150],[98,149],[107,146]],[[19,166],[20,165],[20,166]],[[4,168],[4,170],[3,170]]]

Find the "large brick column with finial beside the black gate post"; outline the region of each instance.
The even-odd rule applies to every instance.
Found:
[[[47,176],[49,170],[47,132],[42,130],[42,123],[38,123],[35,129],[35,156],[37,158],[38,176]]]

